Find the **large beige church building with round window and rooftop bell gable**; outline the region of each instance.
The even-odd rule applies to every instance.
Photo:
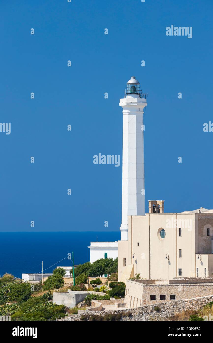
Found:
[[[149,213],[128,216],[128,240],[118,242],[118,277],[126,281],[209,277],[213,273],[213,210],[164,213],[150,201]]]

